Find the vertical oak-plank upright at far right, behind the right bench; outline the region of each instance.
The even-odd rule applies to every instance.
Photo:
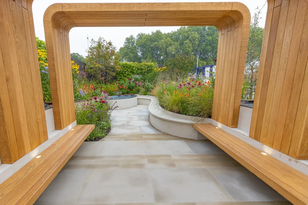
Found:
[[[308,1],[268,3],[249,136],[304,160],[308,159],[303,90],[308,84]]]

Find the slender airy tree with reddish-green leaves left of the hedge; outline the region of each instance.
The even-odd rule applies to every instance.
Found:
[[[86,59],[89,64],[86,72],[91,74],[91,79],[95,78],[100,84],[107,85],[119,69],[119,58],[111,41],[106,41],[102,37],[97,41],[92,39]]]

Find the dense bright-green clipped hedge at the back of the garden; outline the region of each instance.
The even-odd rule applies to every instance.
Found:
[[[117,81],[125,81],[138,75],[141,80],[145,81],[148,75],[155,72],[155,68],[157,68],[156,63],[120,62],[120,69],[117,70],[115,77]]]

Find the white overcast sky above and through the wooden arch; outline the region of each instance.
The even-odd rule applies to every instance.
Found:
[[[136,2],[242,2],[250,10],[253,16],[257,6],[260,8],[266,0],[34,0],[32,10],[34,17],[35,35],[45,41],[43,15],[48,6],[54,3],[136,3]],[[264,27],[267,5],[264,6],[260,26]],[[71,53],[79,53],[83,56],[87,55],[87,35],[89,41],[91,38],[98,39],[100,36],[111,42],[119,49],[123,46],[125,38],[129,35],[136,36],[139,33],[151,33],[160,30],[162,32],[170,32],[177,30],[180,26],[163,26],[163,27],[76,27],[70,31],[70,48]]]

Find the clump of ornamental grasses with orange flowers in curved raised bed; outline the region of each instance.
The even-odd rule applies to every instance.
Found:
[[[194,79],[163,81],[153,89],[152,95],[170,112],[204,118],[212,116],[214,89],[210,82],[201,83]]]

